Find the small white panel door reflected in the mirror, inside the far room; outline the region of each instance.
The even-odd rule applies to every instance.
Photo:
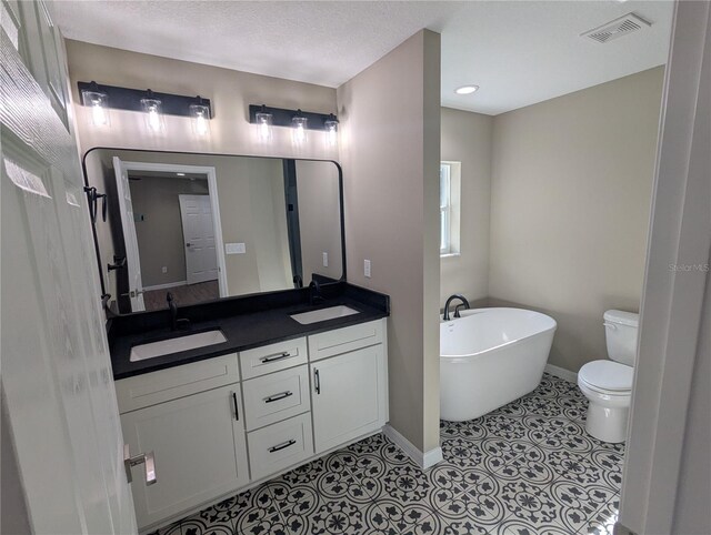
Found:
[[[188,284],[218,279],[210,195],[178,195],[186,248]]]

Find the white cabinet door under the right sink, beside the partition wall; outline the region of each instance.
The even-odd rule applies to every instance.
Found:
[[[384,381],[380,344],[311,364],[317,454],[384,425]]]

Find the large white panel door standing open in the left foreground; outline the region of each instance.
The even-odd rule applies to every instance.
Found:
[[[47,97],[52,77],[34,73],[48,68],[37,54],[57,55],[66,87],[63,51],[39,37],[50,23],[42,6],[3,8],[0,343],[13,447],[2,447],[19,480],[8,491],[24,501],[32,533],[134,533],[76,138]],[[28,42],[43,47],[32,61]]]

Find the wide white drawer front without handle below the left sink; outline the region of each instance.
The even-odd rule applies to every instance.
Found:
[[[216,356],[182,366],[159,370],[114,383],[119,413],[237,383],[240,371],[237,353]]]

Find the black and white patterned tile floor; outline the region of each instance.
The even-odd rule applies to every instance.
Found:
[[[159,534],[611,535],[624,446],[588,435],[585,410],[545,374],[481,418],[442,422],[444,462],[428,471],[379,434]]]

